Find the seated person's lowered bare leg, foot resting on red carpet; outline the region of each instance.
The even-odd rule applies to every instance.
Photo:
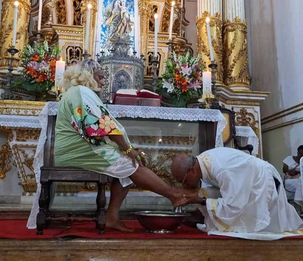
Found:
[[[119,179],[114,179],[114,182],[111,184],[111,198],[106,211],[106,227],[125,232],[133,231],[133,229],[126,227],[124,223],[119,220],[119,209],[129,189],[130,186],[123,188]]]

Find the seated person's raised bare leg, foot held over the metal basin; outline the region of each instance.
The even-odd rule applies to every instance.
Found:
[[[178,189],[166,184],[150,169],[139,167],[130,179],[141,189],[150,190],[168,198],[173,206],[180,206],[185,201],[183,194],[197,194],[198,190]]]

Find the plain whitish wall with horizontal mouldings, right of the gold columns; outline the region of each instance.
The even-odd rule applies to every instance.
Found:
[[[261,119],[303,102],[303,1],[245,0],[252,89],[271,94],[261,104]],[[298,119],[292,113],[262,124],[269,128]],[[261,121],[262,123],[262,121]],[[282,172],[282,160],[303,144],[303,123],[262,134],[264,159]]]

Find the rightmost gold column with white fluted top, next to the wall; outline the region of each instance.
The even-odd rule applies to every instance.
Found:
[[[247,55],[247,23],[244,0],[224,0],[224,83],[233,89],[250,89]]]

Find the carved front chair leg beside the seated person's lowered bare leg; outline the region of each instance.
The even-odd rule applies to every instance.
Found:
[[[99,234],[103,234],[105,230],[106,224],[106,214],[105,214],[105,205],[106,205],[106,197],[105,197],[105,185],[106,183],[98,182],[98,194],[96,198],[97,203],[97,211],[96,211],[96,227],[99,228]]]

